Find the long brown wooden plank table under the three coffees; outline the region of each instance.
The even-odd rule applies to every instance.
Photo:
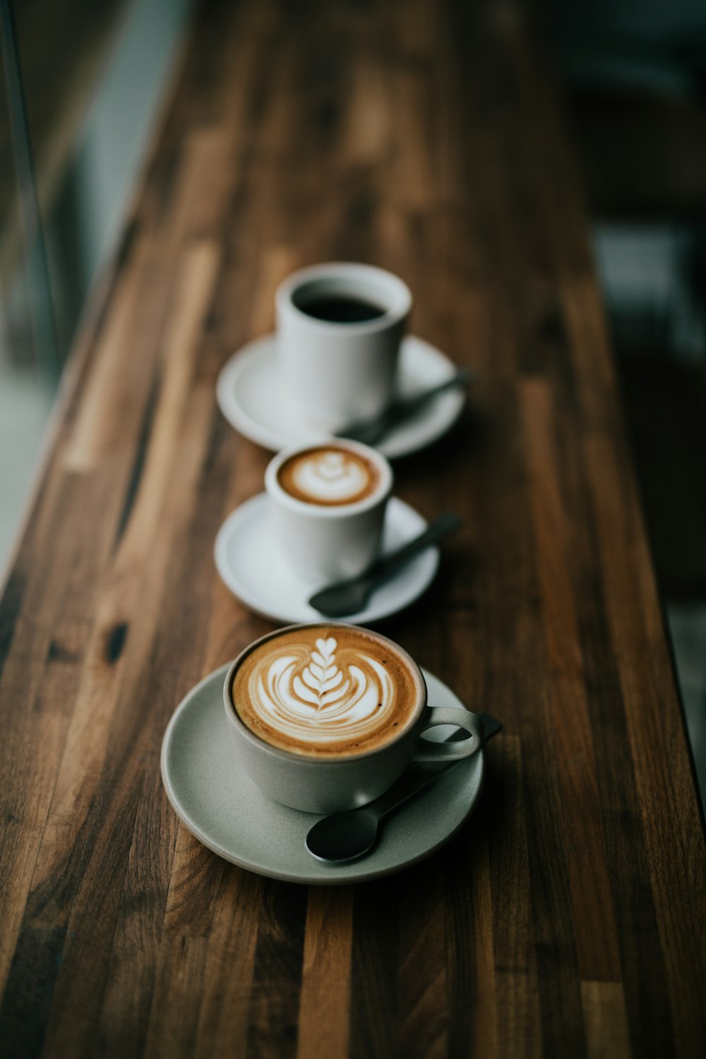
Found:
[[[2,602],[3,1056],[706,1054],[703,819],[546,71],[512,0],[203,10]],[[214,569],[268,460],[219,369],[336,258],[477,370],[397,468],[465,531],[383,631],[506,729],[441,852],[307,890],[202,847],[159,755],[271,628]]]

